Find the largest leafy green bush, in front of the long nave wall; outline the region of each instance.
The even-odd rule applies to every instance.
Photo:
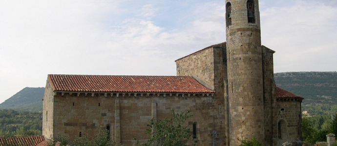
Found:
[[[189,146],[187,143],[191,141],[192,145],[195,146],[198,142],[193,139],[193,134],[190,128],[186,126],[186,120],[191,117],[190,111],[175,113],[174,109],[171,110],[172,118],[165,118],[164,120],[159,120],[155,123],[153,118],[151,122],[147,124],[148,129],[146,133],[151,137],[147,142],[140,144],[137,140],[137,145],[139,146]]]

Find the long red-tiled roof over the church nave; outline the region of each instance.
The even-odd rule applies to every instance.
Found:
[[[49,74],[53,91],[211,93],[191,76]]]

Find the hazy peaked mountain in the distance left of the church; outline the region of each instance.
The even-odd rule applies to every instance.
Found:
[[[26,87],[0,104],[1,109],[42,111],[44,88]]]

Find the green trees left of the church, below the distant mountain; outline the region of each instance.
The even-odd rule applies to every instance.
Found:
[[[0,110],[0,136],[42,135],[42,112]]]

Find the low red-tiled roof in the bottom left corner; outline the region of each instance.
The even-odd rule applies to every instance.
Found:
[[[43,136],[0,137],[1,146],[36,146],[44,140]]]

